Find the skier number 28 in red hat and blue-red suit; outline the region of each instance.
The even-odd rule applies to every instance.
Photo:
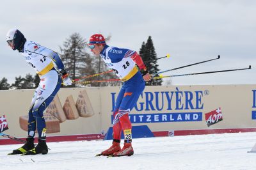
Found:
[[[113,69],[124,82],[113,110],[113,144],[108,150],[102,151],[100,155],[131,156],[134,150],[129,113],[144,90],[145,81],[150,81],[151,76],[140,55],[134,50],[110,47],[106,44],[104,36],[100,34],[92,35],[88,46],[95,55],[100,55],[106,65]],[[124,147],[121,149],[122,130],[124,132]]]

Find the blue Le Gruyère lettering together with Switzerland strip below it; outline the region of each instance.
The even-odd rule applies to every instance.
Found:
[[[111,112],[113,112],[116,93],[111,93],[111,97]],[[150,111],[153,113],[129,114],[129,118],[131,123],[202,121],[203,113],[200,110],[204,109],[203,97],[204,91],[180,91],[179,88],[176,88],[176,91],[144,91],[134,105],[133,111]],[[156,111],[158,112],[154,113]]]

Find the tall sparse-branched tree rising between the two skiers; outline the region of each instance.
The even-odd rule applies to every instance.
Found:
[[[63,47],[60,47],[60,57],[67,72],[70,73],[70,79],[95,73],[93,59],[85,47],[86,42],[79,33],[72,34],[63,42]]]

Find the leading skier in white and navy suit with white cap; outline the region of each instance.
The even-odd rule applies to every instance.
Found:
[[[28,115],[28,137],[26,144],[10,155],[35,155],[47,154],[46,127],[44,110],[52,102],[54,96],[61,87],[61,78],[65,86],[72,81],[65,71],[60,56],[51,49],[47,49],[38,43],[26,40],[18,29],[10,29],[6,35],[6,41],[13,50],[18,50],[24,59],[32,66],[40,77],[40,83],[33,95]],[[38,144],[34,146],[35,131],[38,132]]]

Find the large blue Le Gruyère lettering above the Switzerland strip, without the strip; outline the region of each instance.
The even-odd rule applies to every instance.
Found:
[[[204,91],[144,91],[134,106],[134,111],[189,111],[204,109]],[[116,93],[111,93],[112,111]]]

